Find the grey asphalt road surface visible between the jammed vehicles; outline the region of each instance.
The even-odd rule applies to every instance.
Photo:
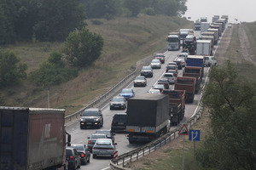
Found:
[[[195,35],[198,34],[195,32]],[[173,61],[173,59],[176,58],[177,54],[180,54],[181,51],[166,51],[166,63],[161,66],[161,69],[154,69],[154,77],[147,78],[148,85],[146,87],[133,87],[133,83],[128,85],[127,88],[133,88],[135,91],[135,94],[143,94],[147,93],[150,88],[158,81],[160,77],[165,72],[165,68],[168,62]],[[208,68],[205,68],[205,75],[207,75]],[[179,76],[182,76],[182,70],[179,70],[178,72]],[[206,81],[206,76],[203,77],[202,82]],[[204,83],[201,83],[201,89]],[[170,88],[173,89],[174,85],[170,85]],[[180,124],[183,124],[183,122],[186,122],[189,120],[191,116],[195,114],[195,111],[197,109],[197,104],[201,98],[201,91],[198,94],[195,94],[195,100],[193,104],[186,104],[185,109],[185,116],[183,118],[183,121],[180,122]],[[102,105],[102,114],[104,119],[104,124],[102,129],[110,129],[111,128],[111,122],[113,115],[115,113],[119,112],[125,112],[125,111],[110,111],[109,105]],[[180,125],[179,124],[179,125]],[[175,128],[175,126],[171,127],[171,130]],[[87,144],[88,137],[90,137],[91,133],[94,133],[96,129],[80,129],[79,122],[73,122],[69,123],[66,127],[66,130],[68,133],[71,133],[72,135],[72,143],[73,144]],[[140,144],[129,144],[129,141],[125,137],[125,133],[117,133],[115,135],[115,142],[117,143],[116,148],[118,150],[119,155],[124,154],[125,152],[135,150],[137,147],[140,146]],[[80,167],[80,169],[89,169],[89,170],[97,170],[97,169],[110,169],[109,167],[109,157],[97,157],[96,159],[92,158],[92,154],[90,156],[90,163],[87,165],[83,165]]]

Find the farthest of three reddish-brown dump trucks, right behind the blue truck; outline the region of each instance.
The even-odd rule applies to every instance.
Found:
[[[201,67],[200,66],[185,66],[183,77],[195,77],[195,94],[198,94],[201,84]]]

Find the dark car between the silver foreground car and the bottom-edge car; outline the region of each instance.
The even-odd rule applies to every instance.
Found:
[[[90,162],[90,151],[86,144],[71,144],[69,147],[75,148],[78,151],[81,164],[86,165]]]

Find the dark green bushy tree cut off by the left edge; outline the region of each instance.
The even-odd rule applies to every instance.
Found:
[[[14,86],[26,78],[26,64],[19,64],[20,59],[13,51],[0,49],[0,88]]]

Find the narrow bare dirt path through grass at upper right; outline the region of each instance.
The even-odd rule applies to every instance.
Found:
[[[239,40],[241,43],[241,54],[244,59],[247,61],[253,63],[253,65],[256,65],[256,61],[254,61],[254,55],[252,48],[250,46],[250,42],[248,40],[247,34],[243,29],[243,25],[241,24],[238,29],[238,35],[239,35]]]

